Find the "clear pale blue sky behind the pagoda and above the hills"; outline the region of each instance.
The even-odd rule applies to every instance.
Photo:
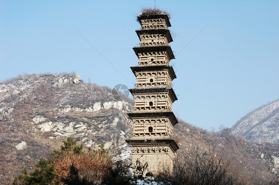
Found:
[[[74,71],[84,82],[133,88],[141,7],[154,0],[0,0],[0,81]],[[177,117],[217,130],[279,98],[279,1],[156,0],[156,7],[172,16]]]

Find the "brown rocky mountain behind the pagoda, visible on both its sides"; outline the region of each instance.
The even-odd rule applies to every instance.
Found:
[[[86,84],[77,74],[25,75],[0,83],[0,184],[11,182],[22,167],[34,167],[68,137],[87,147],[102,141],[118,147],[127,158],[131,151],[125,139],[132,135],[126,112],[133,100],[108,87]],[[229,129],[209,133],[180,120],[174,139],[180,149],[221,151],[243,173],[269,177],[279,171],[279,144],[250,143],[232,136]],[[267,166],[269,168],[267,168]]]

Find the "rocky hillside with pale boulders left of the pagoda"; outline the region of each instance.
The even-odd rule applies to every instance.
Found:
[[[67,137],[86,146],[131,137],[131,99],[81,83],[79,75],[27,75],[0,83],[0,174],[32,167]],[[124,97],[124,96],[123,96]]]

